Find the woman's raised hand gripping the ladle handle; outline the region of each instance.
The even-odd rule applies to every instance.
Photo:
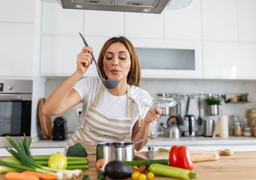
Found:
[[[80,54],[77,55],[77,71],[84,74],[89,65],[92,64],[92,48],[83,47]]]

